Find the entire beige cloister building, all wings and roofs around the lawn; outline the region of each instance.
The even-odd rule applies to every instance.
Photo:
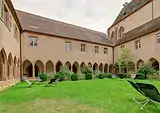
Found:
[[[56,73],[62,65],[75,73],[84,65],[122,73],[149,61],[159,70],[159,5],[160,0],[125,3],[107,35],[15,11],[10,0],[0,0],[0,83],[20,80],[24,74],[34,78],[41,71]],[[115,66],[122,48],[133,53],[132,68]]]

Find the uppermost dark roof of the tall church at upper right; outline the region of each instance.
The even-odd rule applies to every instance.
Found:
[[[129,16],[136,10],[139,10],[141,7],[143,7],[145,4],[149,3],[150,1],[152,0],[132,0],[130,3],[126,4],[126,6],[122,8],[116,20],[113,22],[113,25],[117,24],[119,21]]]

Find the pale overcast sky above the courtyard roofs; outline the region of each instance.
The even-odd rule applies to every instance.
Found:
[[[106,32],[131,0],[12,0],[19,10]]]

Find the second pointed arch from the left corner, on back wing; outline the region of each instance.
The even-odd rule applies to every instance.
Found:
[[[39,76],[39,74],[44,71],[44,64],[41,60],[37,60],[34,66],[35,69],[35,77]]]

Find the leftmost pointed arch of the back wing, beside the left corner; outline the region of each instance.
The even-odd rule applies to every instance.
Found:
[[[29,60],[23,62],[23,75],[33,77],[33,65]]]

